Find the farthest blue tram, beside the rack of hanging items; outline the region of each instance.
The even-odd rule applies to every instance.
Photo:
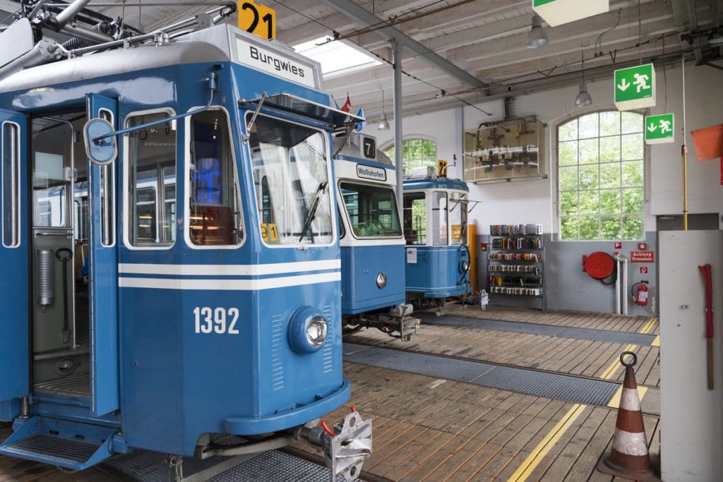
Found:
[[[427,308],[469,293],[469,187],[449,178],[408,178],[404,185],[407,300]]]

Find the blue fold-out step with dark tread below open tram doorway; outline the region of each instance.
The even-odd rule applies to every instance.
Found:
[[[35,460],[70,470],[85,470],[111,457],[117,430],[35,416],[17,420],[14,433],[0,444],[0,454]]]

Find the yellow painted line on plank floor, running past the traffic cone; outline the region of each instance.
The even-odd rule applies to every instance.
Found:
[[[643,325],[640,332],[643,334],[647,334],[653,330],[653,327],[655,326],[655,323],[658,321],[656,317],[652,317],[651,319],[646,322],[646,324]],[[655,342],[658,343],[658,345],[655,345]],[[658,335],[653,342],[653,346],[660,346],[660,335]],[[638,348],[638,345],[628,345],[626,346],[620,353],[623,353],[623,351],[633,351]],[[615,374],[615,371],[617,371],[618,368],[620,368],[620,360],[615,359],[610,363],[610,366],[607,367],[607,369],[602,373],[601,378],[602,379],[612,379],[612,375]],[[638,396],[641,400],[643,400],[643,397],[645,396],[646,392],[648,392],[648,389],[646,387],[638,387]],[[615,395],[612,396],[610,401],[607,403],[607,406],[610,408],[619,408],[620,407],[620,397],[623,395],[623,384],[620,384],[620,388],[615,392]],[[542,439],[542,442],[537,444],[537,447],[534,448],[532,453],[522,462],[522,465],[515,470],[515,473],[513,473],[510,478],[508,478],[508,482],[524,482],[527,480],[527,478],[530,476],[531,473],[534,472],[535,468],[537,468],[537,465],[539,465],[540,462],[542,462],[542,459],[547,455],[547,453],[552,449],[552,447],[555,446],[557,441],[562,438],[562,435],[565,434],[565,431],[567,431],[570,426],[575,423],[577,418],[581,416],[583,411],[587,405],[581,405],[576,404],[573,405],[573,408],[570,408],[568,410],[568,413],[565,414],[564,417],[562,417],[562,420],[560,420],[555,427],[549,431],[549,434],[547,434],[544,439]]]

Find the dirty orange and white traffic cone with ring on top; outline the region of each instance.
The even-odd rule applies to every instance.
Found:
[[[625,356],[632,356],[633,360],[625,363]],[[650,462],[638,384],[633,371],[638,357],[635,353],[626,351],[620,355],[620,363],[625,366],[625,382],[623,394],[620,396],[620,408],[617,410],[615,434],[612,436],[612,450],[610,455],[600,460],[597,470],[630,481],[659,481],[660,478]]]

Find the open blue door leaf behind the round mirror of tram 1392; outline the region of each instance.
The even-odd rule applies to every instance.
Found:
[[[87,95],[89,119],[118,128],[118,101]],[[89,164],[89,287],[91,330],[91,409],[93,416],[117,410],[119,396],[118,251],[116,247],[117,163]]]

